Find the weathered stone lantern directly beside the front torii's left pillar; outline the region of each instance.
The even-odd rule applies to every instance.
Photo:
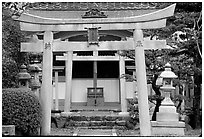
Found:
[[[30,80],[30,88],[39,97],[39,88],[41,86],[39,72],[41,72],[42,69],[36,64],[31,64],[29,65],[29,71],[32,77]]]

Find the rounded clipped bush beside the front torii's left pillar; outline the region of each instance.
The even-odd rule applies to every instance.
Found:
[[[41,107],[35,94],[26,88],[2,90],[2,124],[15,125],[22,136],[38,135]]]

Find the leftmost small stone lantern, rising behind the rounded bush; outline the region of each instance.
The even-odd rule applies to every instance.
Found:
[[[23,64],[20,67],[18,74],[19,87],[29,88],[29,80],[31,79],[30,74],[27,72],[26,66]]]

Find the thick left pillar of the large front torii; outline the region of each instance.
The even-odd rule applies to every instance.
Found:
[[[43,48],[43,70],[42,70],[42,92],[40,101],[42,106],[41,135],[49,135],[51,127],[51,100],[52,100],[52,46],[53,33],[44,33]]]

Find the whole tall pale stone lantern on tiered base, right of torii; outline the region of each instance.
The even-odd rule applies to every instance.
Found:
[[[153,135],[161,136],[183,136],[185,123],[179,121],[176,106],[170,98],[171,93],[173,93],[175,89],[175,87],[173,87],[173,79],[177,78],[177,76],[171,71],[171,65],[169,63],[165,65],[165,70],[159,77],[163,79],[160,90],[162,96],[164,96],[164,100],[159,107],[159,112],[157,112],[157,121],[151,122],[152,133]]]

